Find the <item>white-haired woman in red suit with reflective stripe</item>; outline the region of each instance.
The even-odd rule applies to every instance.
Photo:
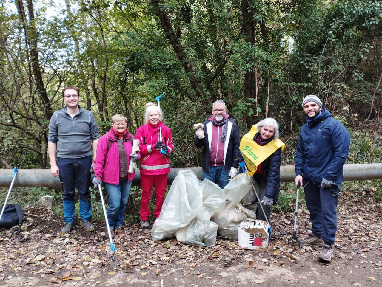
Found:
[[[138,128],[136,139],[139,140],[139,173],[141,175],[141,227],[149,228],[149,201],[151,190],[155,185],[155,211],[154,218],[158,218],[164,201],[167,187],[167,174],[170,172],[168,154],[172,153],[174,146],[172,133],[160,118],[162,110],[154,103],[146,104],[145,124]]]

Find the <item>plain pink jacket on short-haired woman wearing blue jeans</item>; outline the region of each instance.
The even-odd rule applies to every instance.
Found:
[[[107,150],[107,139],[111,140],[109,150]],[[128,133],[128,139],[134,139],[134,136]],[[119,184],[119,154],[118,154],[118,142],[113,132],[108,131],[102,135],[97,145],[97,156],[94,160],[94,175],[101,177],[103,182],[110,184]],[[127,156],[127,168],[130,163],[130,153],[132,141],[124,142],[126,156]],[[139,153],[139,152],[138,152]],[[105,158],[106,157],[106,158]],[[128,179],[131,181],[134,178],[135,173],[128,173]]]

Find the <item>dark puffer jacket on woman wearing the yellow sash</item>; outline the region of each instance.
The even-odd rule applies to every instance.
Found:
[[[260,136],[258,132],[254,137],[254,142]],[[272,139],[267,140],[264,144],[268,144]],[[267,185],[265,187],[265,195],[273,198],[273,205],[277,203],[278,193],[280,192],[280,165],[281,165],[281,147],[275,150],[272,155],[268,156],[262,163],[262,174]]]

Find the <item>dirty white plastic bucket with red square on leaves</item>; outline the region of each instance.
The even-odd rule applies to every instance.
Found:
[[[243,221],[239,224],[239,245],[249,249],[260,249],[268,247],[269,224],[262,220],[254,222]]]

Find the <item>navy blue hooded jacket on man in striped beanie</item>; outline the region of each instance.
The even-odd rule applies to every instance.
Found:
[[[301,127],[295,160],[296,176],[316,184],[323,178],[341,183],[349,145],[349,132],[323,108],[320,116]]]

